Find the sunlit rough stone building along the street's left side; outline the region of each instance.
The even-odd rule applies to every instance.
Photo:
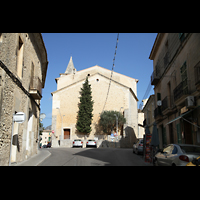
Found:
[[[0,33],[0,165],[37,153],[40,99],[47,72],[47,52],[40,33]],[[24,112],[22,124],[13,114]]]

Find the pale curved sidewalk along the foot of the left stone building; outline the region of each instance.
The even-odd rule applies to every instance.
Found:
[[[48,158],[51,153],[47,149],[39,149],[38,154],[28,158],[28,160],[22,161],[20,163],[13,163],[11,166],[37,166],[46,158]]]

